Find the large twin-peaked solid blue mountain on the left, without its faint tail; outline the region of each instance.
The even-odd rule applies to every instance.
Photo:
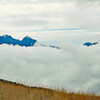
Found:
[[[36,43],[35,39],[32,39],[28,36],[24,37],[22,40],[14,39],[9,35],[0,36],[0,44],[9,44],[9,45],[19,45],[19,46],[33,46]]]

